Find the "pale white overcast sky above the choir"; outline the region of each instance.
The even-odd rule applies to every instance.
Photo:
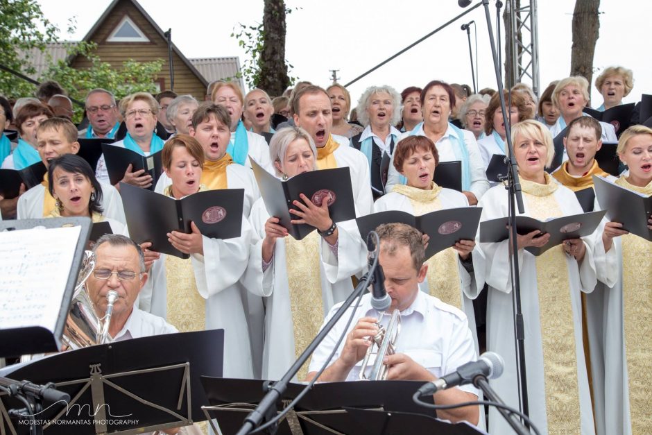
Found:
[[[45,17],[61,29],[62,39],[80,40],[111,2],[39,0],[39,3]],[[256,25],[263,15],[262,0],[140,0],[139,3],[160,28],[172,28],[173,42],[187,58],[238,56],[241,65],[246,53],[230,35],[234,26]],[[472,6],[477,3],[479,0]],[[489,5],[495,32],[495,1]],[[290,75],[322,86],[332,83],[329,70],[338,70],[338,82],[348,83],[472,7],[462,9],[452,0],[286,0],[286,6],[293,9],[286,18],[286,59],[293,65]],[[551,80],[569,75],[573,9],[572,0],[538,1],[540,92]],[[644,0],[602,0],[600,12],[594,80],[610,65],[628,67],[634,71],[635,83],[624,101],[639,101],[642,93],[652,94],[652,61],[646,54],[649,53],[647,38],[643,37],[643,29],[649,26],[652,4]],[[77,30],[67,35],[71,18],[76,20]],[[390,85],[398,92],[411,85],[422,87],[434,79],[472,85],[467,35],[460,28],[472,20],[475,22],[471,27],[472,44],[477,31],[478,58],[474,57],[474,63],[478,68],[478,89],[496,89],[485,10],[481,6],[350,85],[352,105],[372,85]],[[523,81],[531,83],[529,78]],[[601,96],[593,87],[592,106],[601,103]]]

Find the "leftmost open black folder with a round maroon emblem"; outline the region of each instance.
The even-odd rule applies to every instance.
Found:
[[[120,194],[130,237],[138,244],[151,241],[151,249],[159,253],[189,258],[169,243],[166,234],[191,232],[191,221],[212,239],[239,237],[242,230],[244,189],[207,190],[174,199],[122,182]]]

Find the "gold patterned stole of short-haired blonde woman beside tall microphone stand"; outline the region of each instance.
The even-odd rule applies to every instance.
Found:
[[[521,178],[529,215],[545,220],[563,216],[553,195],[558,185],[544,173],[546,184]],[[571,291],[563,246],[536,257],[546,413],[550,434],[579,434],[580,402]]]

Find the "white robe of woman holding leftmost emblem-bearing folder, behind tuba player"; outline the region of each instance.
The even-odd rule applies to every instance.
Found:
[[[224,377],[253,375],[249,330],[239,279],[249,255],[251,228],[242,218],[240,237],[203,236],[204,255],[191,255],[197,289],[206,300],[206,330],[224,330]],[[152,265],[150,280],[140,292],[139,308],[167,319],[165,255]]]

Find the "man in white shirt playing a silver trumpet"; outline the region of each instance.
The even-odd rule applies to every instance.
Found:
[[[421,233],[409,225],[389,223],[377,228],[380,238],[379,265],[385,275],[385,289],[392,300],[387,310],[401,313],[400,336],[396,353],[384,356],[388,366],[386,379],[432,382],[459,366],[477,359],[471,331],[463,312],[439,299],[419,291],[426,277],[425,250]],[[335,305],[325,322],[340,305]],[[350,307],[352,309],[352,307]],[[332,352],[348,321],[350,312],[336,323],[315,350],[310,362],[308,379],[312,379]],[[334,355],[334,362],[324,370],[320,381],[334,382],[358,379],[361,363],[378,332],[378,313],[371,307],[371,295],[363,296],[345,343]],[[381,319],[386,325],[389,316]],[[370,368],[370,365],[368,366]],[[435,394],[438,404],[455,404],[478,399],[474,386],[465,385]],[[463,407],[438,411],[438,416],[453,423],[479,421],[479,407]]]

